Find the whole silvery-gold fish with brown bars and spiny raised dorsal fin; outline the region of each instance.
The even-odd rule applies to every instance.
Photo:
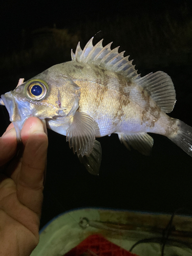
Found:
[[[118,134],[128,150],[133,147],[150,155],[153,138],[166,136],[192,156],[192,127],[169,117],[176,103],[170,76],[163,71],[143,77],[130,56],[93,45],[92,37],[81,49],[71,50],[71,61],[52,66],[1,95],[13,122],[18,141],[30,116],[38,117],[48,129],[66,136],[80,162],[94,175],[99,174],[101,145],[96,138]]]

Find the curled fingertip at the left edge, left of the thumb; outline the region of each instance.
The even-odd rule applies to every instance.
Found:
[[[17,140],[13,124],[10,124],[0,137],[0,166],[7,163],[16,153]]]

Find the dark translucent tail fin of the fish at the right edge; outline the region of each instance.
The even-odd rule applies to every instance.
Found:
[[[192,157],[192,127],[180,120],[178,121],[179,130],[177,135],[168,138]]]

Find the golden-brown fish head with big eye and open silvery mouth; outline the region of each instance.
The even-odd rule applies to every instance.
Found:
[[[18,140],[20,131],[29,117],[35,116],[45,120],[58,116],[73,116],[78,109],[80,88],[70,77],[60,72],[58,74],[54,67],[18,84],[15,90],[1,95],[0,103],[5,104],[9,112]]]

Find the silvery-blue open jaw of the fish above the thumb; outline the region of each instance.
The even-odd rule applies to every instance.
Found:
[[[9,120],[15,127],[17,140],[20,141],[20,132],[22,131],[25,121],[30,116],[33,116],[32,105],[28,101],[24,102],[15,98],[12,91],[1,95],[1,98],[9,113]]]

